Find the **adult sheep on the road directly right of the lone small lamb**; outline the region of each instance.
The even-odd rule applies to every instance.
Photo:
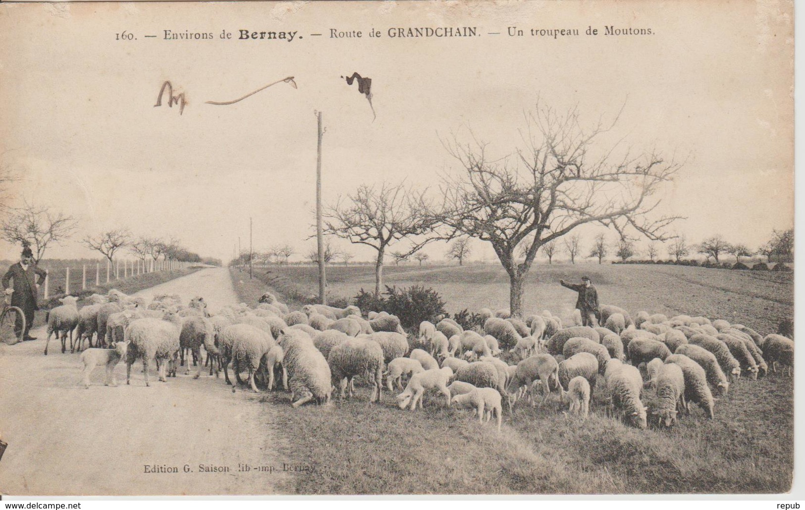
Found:
[[[164,312],[163,319],[147,318],[132,321],[126,327],[126,342],[129,342],[126,351],[126,385],[130,384],[131,365],[138,358],[142,359],[146,386],[149,385],[148,360],[151,359],[156,361],[159,380],[166,382],[167,364],[172,362],[175,367],[181,331],[182,319],[172,311]]]

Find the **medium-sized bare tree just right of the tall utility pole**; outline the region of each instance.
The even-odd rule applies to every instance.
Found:
[[[352,195],[326,208],[324,232],[353,244],[371,246],[378,252],[374,294],[380,295],[386,249],[403,239],[431,232],[438,224],[431,209],[425,191],[416,191],[404,183],[382,183],[380,187],[362,184]],[[407,253],[416,253],[430,241],[435,238],[415,243]]]

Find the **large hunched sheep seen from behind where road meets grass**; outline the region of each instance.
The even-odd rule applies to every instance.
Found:
[[[329,403],[332,373],[310,336],[304,331],[283,331],[277,343],[283,348],[283,367],[291,391],[291,407],[299,407],[314,399],[319,404]]]

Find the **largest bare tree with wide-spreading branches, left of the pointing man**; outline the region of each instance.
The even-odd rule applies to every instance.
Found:
[[[537,251],[584,224],[601,224],[621,236],[627,229],[649,239],[666,238],[676,218],[655,216],[658,191],[679,164],[654,152],[634,154],[601,135],[617,122],[583,127],[576,108],[559,113],[537,105],[526,115],[523,143],[503,158],[489,144],[444,142],[463,171],[447,176],[444,224],[449,235],[488,241],[510,279],[510,310],[522,314],[523,283]],[[527,242],[526,257],[516,249]]]

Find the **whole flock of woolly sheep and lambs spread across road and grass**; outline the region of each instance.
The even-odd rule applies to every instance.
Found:
[[[289,311],[270,293],[254,308],[242,303],[214,314],[199,297],[185,302],[160,295],[145,302],[110,290],[89,301],[79,310],[76,298],[67,296],[49,312],[45,347],[47,354],[54,333],[62,352],[68,339],[71,352],[81,352],[87,341],[81,360],[88,388],[99,365],[106,367],[106,384],[115,385],[114,367],[122,359],[127,384],[136,360],[142,360],[146,385],[151,360],[159,380],[175,376],[179,365],[188,374],[187,353],[198,378],[203,346],[210,375],[223,368],[227,384],[230,365],[236,382],[247,382],[255,392],[261,379],[274,389],[275,374],[281,374],[293,407],[327,403],[333,392],[353,397],[359,378],[372,389],[370,402],[382,401],[384,388],[400,389],[400,409],[422,409],[425,393],[436,392],[448,406],[473,409],[481,421],[496,417],[498,429],[504,404],[512,409],[527,398],[535,405],[536,397],[541,404],[553,393],[570,413],[587,417],[596,385],[605,389],[613,413],[641,428],[649,415],[641,400],[647,390],[655,392],[650,414],[660,424],[672,426],[691,403],[712,418],[713,392],[727,393],[742,374],[765,376],[769,364],[774,372],[778,365],[791,372],[794,360],[794,342],[782,335],[763,337],[741,324],[688,315],[668,319],[641,311],[633,319],[617,306],[601,306],[601,327],[580,326],[578,311],[572,324],[563,325],[549,311],[521,320],[508,311],[481,309],[480,331],[441,318],[421,323],[409,340],[394,315],[369,312],[365,319],[356,306]],[[242,372],[248,372],[247,381]]]

